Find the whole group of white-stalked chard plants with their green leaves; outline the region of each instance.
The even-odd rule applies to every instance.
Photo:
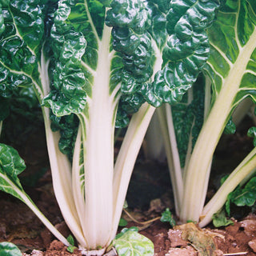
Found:
[[[205,226],[254,174],[255,149],[203,208],[218,140],[255,100],[255,26],[254,0],[0,0],[0,131],[11,111],[41,106],[54,193],[83,254],[126,255],[131,239],[153,255],[137,230],[115,234],[154,112],[182,222]],[[0,190],[72,247],[22,189],[25,168],[0,144]]]

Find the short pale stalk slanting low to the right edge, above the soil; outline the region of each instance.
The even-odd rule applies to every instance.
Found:
[[[202,210],[199,226],[206,226],[211,222],[215,213],[222,208],[226,198],[242,181],[250,178],[256,171],[256,147],[243,159],[239,166],[230,174],[229,178],[220,186],[214,197],[206,204]]]

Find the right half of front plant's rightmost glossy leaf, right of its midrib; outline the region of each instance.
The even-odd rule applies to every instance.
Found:
[[[149,1],[150,2],[150,1]],[[179,102],[196,81],[210,56],[206,29],[214,20],[218,1],[174,1],[166,14],[168,38],[162,51],[162,70],[146,92],[153,106]]]

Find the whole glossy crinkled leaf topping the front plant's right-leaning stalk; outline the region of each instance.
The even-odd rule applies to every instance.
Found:
[[[136,92],[142,95],[137,98],[153,106],[181,101],[209,57],[206,28],[213,22],[218,1],[136,1],[133,4],[138,11],[133,14],[125,13],[132,5],[130,1],[124,7],[118,2],[111,3],[114,8],[108,11],[106,24],[113,26],[114,50],[124,55],[123,98]],[[115,17],[122,25],[112,21]],[[162,70],[152,78],[158,52],[162,54]]]

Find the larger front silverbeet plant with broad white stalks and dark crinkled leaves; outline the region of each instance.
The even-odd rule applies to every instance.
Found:
[[[218,1],[0,4],[1,97],[34,87],[63,218],[83,254],[102,255],[117,232],[130,175],[155,107],[182,100],[209,57],[206,28]],[[115,127],[127,125],[114,162]],[[10,153],[10,166],[0,168],[0,188],[26,202],[69,246],[22,190],[17,175],[23,166],[16,170],[14,152],[2,148]],[[2,158],[7,161],[4,150]],[[138,237],[130,230],[126,239],[128,234]],[[153,255],[153,250],[141,254]]]

